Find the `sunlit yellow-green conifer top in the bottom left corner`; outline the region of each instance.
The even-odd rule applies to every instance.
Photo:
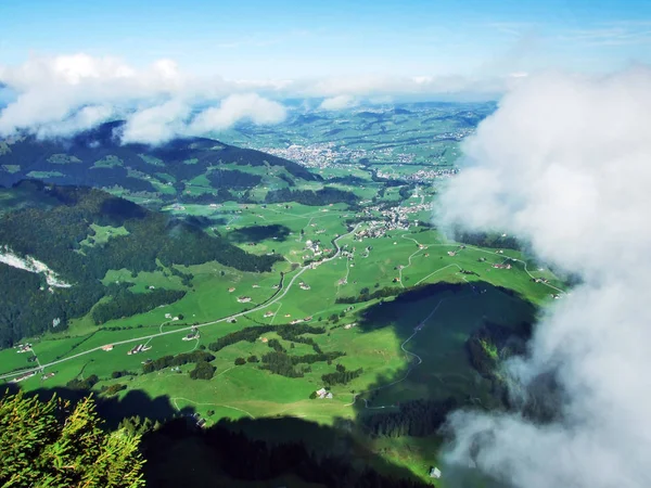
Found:
[[[54,487],[144,486],[140,437],[101,429],[91,397],[73,406],[42,402],[22,391],[0,399],[0,485]]]

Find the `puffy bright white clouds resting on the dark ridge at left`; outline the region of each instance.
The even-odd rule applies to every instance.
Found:
[[[18,131],[66,137],[125,118],[124,142],[159,144],[242,120],[276,124],[285,116],[279,103],[248,92],[272,84],[196,79],[181,74],[169,60],[136,69],[119,60],[86,54],[31,57],[16,67],[0,66],[0,82],[15,93],[0,112],[4,137]]]

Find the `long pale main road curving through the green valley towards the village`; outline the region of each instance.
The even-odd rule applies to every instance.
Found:
[[[334,239],[332,241],[332,243],[334,244],[334,246],[336,248],[336,253],[334,253],[331,257],[323,259],[322,262],[328,262],[328,261],[331,261],[333,259],[336,259],[341,255],[341,252],[342,252],[342,248],[339,245],[339,241],[341,239],[347,237],[348,235],[352,235],[353,233],[355,233],[357,231],[357,229],[359,228],[360,224],[361,223],[358,223],[357,226],[355,226],[355,228],[353,228],[353,230],[350,232],[342,234],[339,237]],[[256,312],[256,311],[259,311],[259,310],[264,310],[265,308],[270,307],[271,305],[273,305],[278,300],[280,300],[281,298],[283,298],[290,292],[290,290],[292,288],[292,285],[298,279],[298,277],[301,277],[305,271],[307,271],[311,267],[309,265],[308,266],[304,266],[303,268],[301,268],[301,270],[296,274],[294,274],[294,277],[292,277],[292,279],[286,284],[286,286],[283,287],[283,290],[282,290],[281,293],[278,293],[269,301],[267,301],[267,303],[265,303],[263,305],[259,305],[257,307],[254,307],[254,308],[252,308],[250,310],[244,310],[244,311],[234,313],[232,316],[225,317],[222,319],[214,320],[212,322],[205,322],[205,323],[201,323],[201,324],[197,324],[197,325],[188,325],[187,328],[181,328],[181,329],[176,329],[174,331],[163,332],[162,331],[163,325],[168,322],[168,321],[166,321],[166,322],[163,322],[161,324],[159,332],[156,333],[156,334],[144,335],[144,336],[141,336],[141,337],[130,338],[130,339],[126,339],[126,341],[118,341],[118,342],[115,342],[115,343],[112,343],[112,344],[113,344],[113,346],[122,346],[122,345],[125,345],[125,344],[149,342],[149,341],[151,341],[151,339],[153,339],[155,337],[161,337],[161,336],[170,335],[170,334],[180,334],[180,333],[188,332],[188,331],[190,331],[192,329],[195,329],[195,328],[196,329],[201,329],[201,328],[205,328],[205,326],[208,326],[208,325],[214,325],[216,323],[227,322],[229,320],[237,319],[237,318],[245,316],[247,313],[253,313],[253,312]],[[103,346],[94,347],[92,349],[88,349],[88,350],[85,350],[82,352],[78,352],[76,355],[68,356],[66,358],[58,359],[56,361],[48,362],[48,363],[44,363],[44,364],[39,364],[38,368],[31,368],[31,369],[28,369],[28,370],[21,370],[21,371],[14,371],[14,372],[11,372],[11,373],[2,374],[2,375],[0,375],[0,380],[8,380],[8,378],[15,377],[15,376],[21,376],[23,374],[31,373],[31,372],[43,371],[46,368],[50,368],[50,367],[53,367],[53,365],[56,365],[56,364],[61,364],[62,362],[69,361],[72,359],[77,359],[77,358],[80,358],[81,356],[86,356],[86,355],[89,355],[91,352],[100,351],[100,350],[102,350],[102,347]]]

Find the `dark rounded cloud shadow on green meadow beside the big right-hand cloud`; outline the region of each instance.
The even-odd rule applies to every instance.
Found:
[[[497,370],[525,351],[535,314],[515,293],[485,282],[427,285],[372,306],[358,326],[394,328],[406,364],[356,393],[357,424],[371,436],[423,437],[452,410],[508,408]]]

